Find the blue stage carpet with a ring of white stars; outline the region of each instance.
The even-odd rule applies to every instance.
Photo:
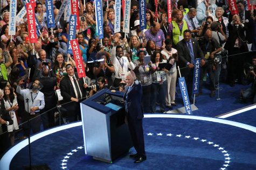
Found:
[[[56,132],[32,143],[32,164],[51,169],[256,169],[254,132],[208,121],[145,118],[147,160],[134,164],[128,153],[113,164],[86,156],[82,127]],[[206,141],[205,141],[206,140]],[[130,153],[134,153],[134,149]],[[29,164],[24,148],[10,169]]]

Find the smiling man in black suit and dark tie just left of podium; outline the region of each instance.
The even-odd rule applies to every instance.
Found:
[[[77,72],[74,72],[74,69],[71,64],[66,65],[67,75],[60,80],[60,92],[63,97],[63,104],[69,102],[68,104],[63,105],[64,108],[68,110],[67,117],[69,122],[77,121],[77,116],[79,120],[81,117],[79,100],[87,98],[86,88],[87,84],[83,82],[82,79],[78,78]],[[73,101],[73,102],[71,102]]]

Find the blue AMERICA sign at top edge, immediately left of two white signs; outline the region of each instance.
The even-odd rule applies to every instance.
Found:
[[[103,39],[103,12],[101,0],[95,0],[95,15],[98,38]]]

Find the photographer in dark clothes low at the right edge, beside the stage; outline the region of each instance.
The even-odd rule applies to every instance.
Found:
[[[252,83],[251,87],[241,91],[241,101],[252,101],[256,104],[256,56],[252,57],[252,65],[247,64],[247,80]]]

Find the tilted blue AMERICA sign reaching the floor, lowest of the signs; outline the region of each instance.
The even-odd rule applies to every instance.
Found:
[[[184,107],[186,110],[186,114],[191,115],[192,110],[190,106],[189,95],[186,89],[186,82],[184,77],[179,77],[179,88],[181,88],[181,94],[182,94],[182,99],[183,99]]]

